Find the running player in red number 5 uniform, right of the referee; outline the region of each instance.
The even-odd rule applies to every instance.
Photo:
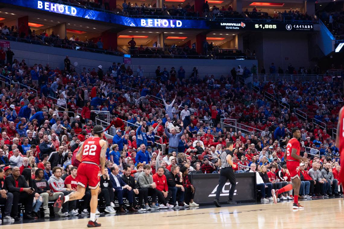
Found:
[[[307,161],[307,158],[300,156],[300,142],[299,139],[301,138],[301,131],[299,128],[293,128],[291,130],[293,138],[289,140],[287,144],[287,149],[284,152],[284,161],[287,162],[287,169],[290,173],[291,178],[291,185],[288,184],[275,192],[272,190],[272,198],[275,203],[277,203],[277,196],[279,193],[287,192],[291,189],[294,190],[294,209],[303,208],[299,204],[299,191],[300,191],[300,160]]]

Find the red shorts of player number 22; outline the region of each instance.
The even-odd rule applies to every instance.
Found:
[[[100,168],[99,165],[92,163],[80,163],[78,167],[78,174],[76,176],[78,185],[88,187],[90,189],[96,189],[99,186],[100,181]]]

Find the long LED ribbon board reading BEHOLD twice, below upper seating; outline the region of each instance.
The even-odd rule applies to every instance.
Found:
[[[46,2],[41,0],[0,0],[2,3],[18,5],[21,7],[59,13],[78,18],[114,23],[131,27],[150,28],[189,28],[189,29],[220,29],[230,31],[313,31],[312,23],[268,23],[268,22],[237,22],[231,21],[209,21],[209,20],[174,20],[174,19],[151,19],[132,18],[130,16],[118,15],[115,13],[101,12],[85,8],[73,7],[70,5]]]

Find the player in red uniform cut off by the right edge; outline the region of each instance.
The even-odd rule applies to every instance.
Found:
[[[338,184],[344,183],[344,106],[339,111],[338,115],[338,124],[337,124],[337,137],[336,137],[336,146],[339,149],[339,153],[341,155],[341,170],[338,174]]]

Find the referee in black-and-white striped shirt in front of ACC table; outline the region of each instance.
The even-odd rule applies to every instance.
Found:
[[[216,207],[221,207],[219,202],[220,193],[222,191],[223,186],[225,186],[227,180],[230,182],[230,190],[228,196],[228,204],[236,204],[233,201],[233,195],[235,191],[236,181],[233,168],[236,167],[235,164],[232,162],[233,157],[233,142],[226,143],[226,150],[220,154],[220,159],[218,160],[219,166],[222,166],[220,171],[220,177],[218,179],[218,186],[216,190],[216,197],[214,199],[214,204]],[[232,168],[233,167],[233,168]]]

